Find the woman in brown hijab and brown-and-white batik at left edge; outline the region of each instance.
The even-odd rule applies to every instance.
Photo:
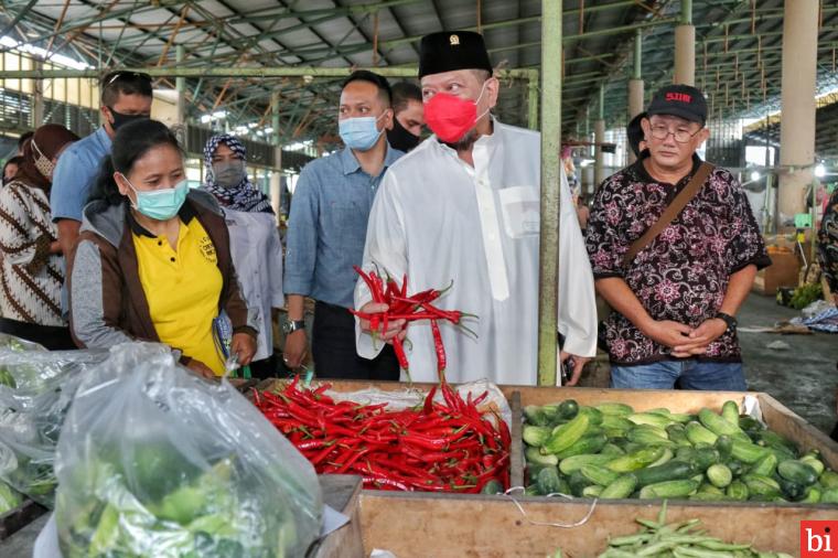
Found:
[[[64,261],[50,212],[58,155],[78,136],[49,124],[23,148],[23,162],[0,191],[0,331],[50,350],[75,348],[61,311]]]

